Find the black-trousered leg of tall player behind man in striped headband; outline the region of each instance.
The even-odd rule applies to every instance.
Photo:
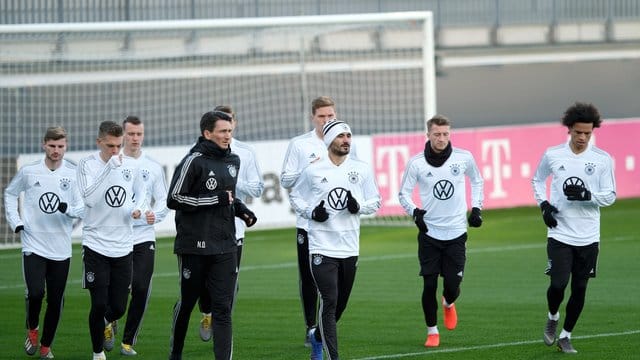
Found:
[[[318,311],[318,289],[313,281],[309,268],[309,237],[304,229],[296,229],[296,244],[298,253],[298,285],[306,333],[316,326]],[[306,340],[305,340],[306,341]],[[306,345],[306,344],[305,344]]]

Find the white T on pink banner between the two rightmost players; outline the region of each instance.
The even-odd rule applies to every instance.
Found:
[[[482,163],[488,164],[482,168],[482,175],[486,181],[493,183],[489,193],[490,199],[507,197],[504,190],[504,179],[511,178],[511,145],[508,139],[493,139],[482,141]]]

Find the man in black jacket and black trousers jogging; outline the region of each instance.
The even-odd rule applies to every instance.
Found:
[[[234,217],[247,226],[256,217],[235,197],[240,158],[229,144],[233,125],[221,111],[205,113],[198,142],[175,170],[167,207],[175,209],[174,253],[180,270],[180,298],[173,310],[170,359],[182,359],[191,311],[200,289],[211,297],[213,350],[218,360],[231,359],[231,304],[238,276]]]

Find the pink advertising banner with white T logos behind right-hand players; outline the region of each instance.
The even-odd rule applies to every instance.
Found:
[[[531,178],[538,162],[549,146],[568,136],[560,124],[454,128],[451,143],[473,153],[485,180],[484,208],[506,208],[535,205]],[[423,133],[373,137],[373,167],[383,201],[378,216],[404,215],[398,202],[402,173],[425,141]],[[640,196],[640,118],[605,120],[591,141],[614,159],[618,198]],[[414,201],[420,204],[416,193]]]

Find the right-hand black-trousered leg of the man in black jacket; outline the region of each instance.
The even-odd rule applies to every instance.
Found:
[[[213,350],[216,359],[231,359],[231,306],[238,278],[237,260],[235,253],[211,256],[211,265],[206,272],[207,289],[211,296],[211,315],[214,319]]]

